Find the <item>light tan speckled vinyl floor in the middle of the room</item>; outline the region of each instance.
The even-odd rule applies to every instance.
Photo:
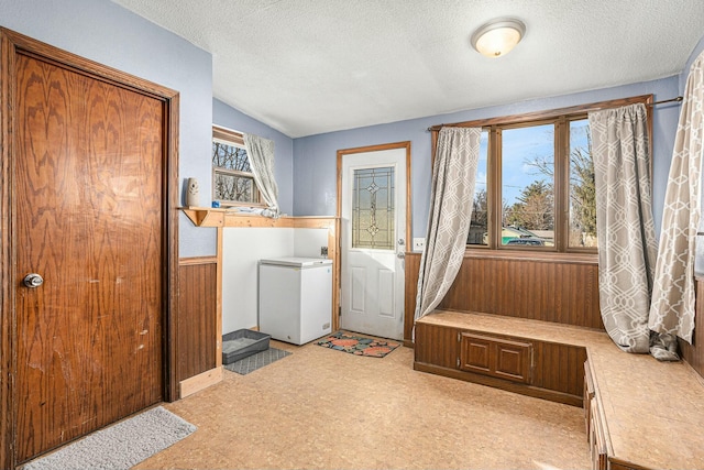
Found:
[[[413,349],[293,354],[165,407],[198,427],[136,469],[590,468],[581,408],[416,372]]]

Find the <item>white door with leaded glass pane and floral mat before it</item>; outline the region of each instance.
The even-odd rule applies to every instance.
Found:
[[[406,147],[342,157],[343,329],[403,339]]]

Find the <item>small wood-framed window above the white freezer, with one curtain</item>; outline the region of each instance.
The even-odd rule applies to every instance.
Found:
[[[244,140],[239,132],[212,128],[212,199],[221,206],[263,206]]]

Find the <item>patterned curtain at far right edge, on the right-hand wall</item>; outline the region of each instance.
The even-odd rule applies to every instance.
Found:
[[[700,225],[702,138],[704,136],[704,54],[692,64],[674,140],[656,284],[648,325],[692,343],[694,253]]]

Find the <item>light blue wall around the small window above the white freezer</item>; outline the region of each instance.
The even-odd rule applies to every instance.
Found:
[[[278,186],[278,207],[282,214],[294,214],[293,139],[215,98],[212,99],[212,122],[274,141],[274,174]]]

